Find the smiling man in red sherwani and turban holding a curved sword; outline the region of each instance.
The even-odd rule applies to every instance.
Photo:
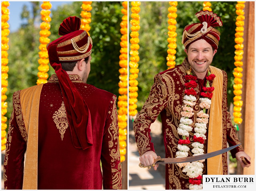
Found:
[[[240,143],[227,112],[227,74],[210,66],[220,35],[214,27],[222,26],[222,21],[211,11],[196,16],[201,23],[187,25],[183,32],[187,58],[155,76],[149,97],[134,120],[139,160],[145,166],[157,158],[150,125],[159,114],[166,158],[201,155],[226,148],[227,143]],[[250,160],[242,146],[231,154],[242,167],[250,166],[240,158]],[[226,175],[227,153],[205,161],[166,164],[166,189],[202,189],[202,174]]]

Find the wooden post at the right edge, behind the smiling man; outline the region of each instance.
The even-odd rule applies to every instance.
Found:
[[[251,157],[251,166],[243,169],[244,175],[254,175],[254,2],[247,1],[245,3],[245,31],[244,31],[244,54],[243,54],[243,94],[242,94],[242,119],[243,122],[240,125],[241,142],[245,152]]]

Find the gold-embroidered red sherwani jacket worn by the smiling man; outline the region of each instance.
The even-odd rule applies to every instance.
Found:
[[[182,139],[181,135],[177,133],[177,128],[179,127],[179,120],[182,117],[181,111],[185,91],[184,83],[186,83],[186,70],[189,69],[190,65],[187,62],[187,59],[185,59],[181,65],[155,75],[154,84],[151,88],[149,97],[142,107],[142,110],[137,114],[137,117],[134,120],[134,132],[139,155],[144,154],[146,151],[154,151],[154,146],[153,143],[151,143],[150,137],[150,125],[160,114],[162,119],[162,132],[166,158],[175,158],[175,154],[178,151],[178,141],[179,139]],[[225,71],[222,71],[222,73],[222,148],[226,148],[227,142],[230,146],[233,146],[239,144],[239,141],[232,126],[230,114],[227,112],[227,74]],[[199,83],[198,80],[197,83]],[[193,111],[195,114],[190,118],[193,120],[193,124],[191,124],[193,130],[189,132],[189,139],[191,141],[191,143],[188,145],[190,147],[189,156],[192,156],[191,144],[193,143],[193,135],[195,133],[194,124],[197,118],[197,113],[201,110],[199,107],[199,86],[197,85],[194,90],[197,92],[197,100]],[[210,114],[210,109],[208,109],[207,113]],[[206,132],[207,139],[204,143],[204,153],[207,153],[208,125],[209,124],[207,124]],[[236,152],[242,150],[242,146],[231,150],[233,158],[235,158]],[[227,174],[227,153],[222,154],[222,161],[223,174]],[[189,177],[186,175],[186,173],[182,172],[182,169],[183,168],[178,167],[176,164],[166,164],[166,189],[189,189]],[[207,160],[204,162],[203,174],[207,174]]]

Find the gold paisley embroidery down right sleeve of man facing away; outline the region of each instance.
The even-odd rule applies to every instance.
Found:
[[[116,101],[116,97],[113,96],[112,100],[114,103]],[[113,101],[111,101],[113,103]],[[117,122],[117,106],[113,104],[113,108],[111,111],[111,124],[108,129],[109,135],[111,136],[111,140],[109,141],[110,148],[110,156],[111,156],[111,172],[112,172],[112,188],[113,189],[121,189],[119,185],[121,184],[122,174],[121,174],[121,163],[118,166],[115,166],[115,161],[120,160],[120,147],[119,147],[119,137],[118,137],[118,122]]]

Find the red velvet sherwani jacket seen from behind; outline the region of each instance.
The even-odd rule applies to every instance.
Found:
[[[57,75],[43,84],[38,119],[38,189],[121,189],[116,96],[69,75],[91,114],[93,146],[75,148]],[[22,90],[21,90],[22,91]],[[27,132],[20,104],[13,96],[4,162],[5,189],[22,189]],[[38,97],[39,99],[39,97]],[[64,124],[62,129],[58,129]],[[102,162],[102,171],[100,167]]]

